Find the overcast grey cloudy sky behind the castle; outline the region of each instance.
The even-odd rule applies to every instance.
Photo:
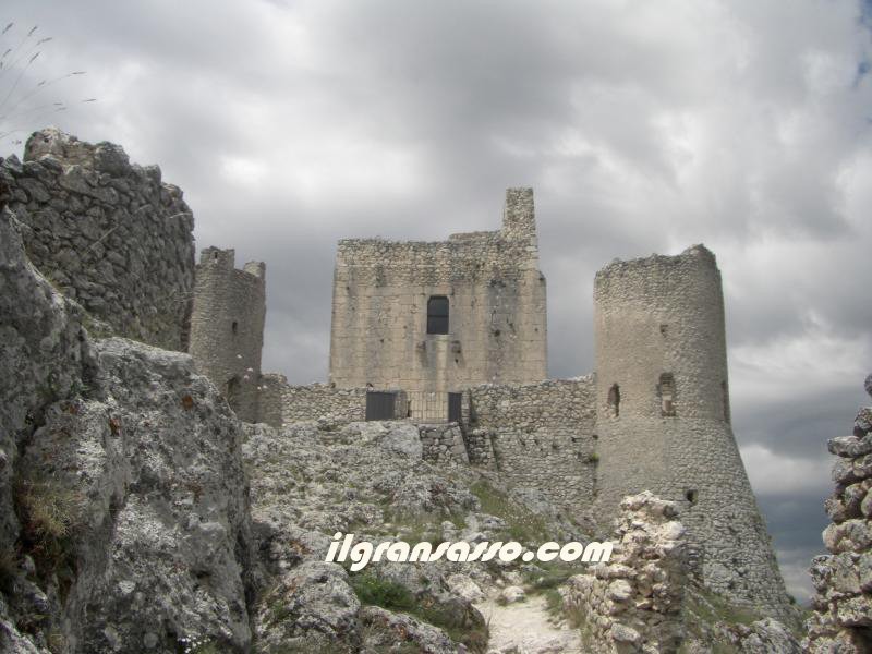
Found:
[[[56,124],[158,164],[198,249],[266,262],[264,370],[292,383],[326,378],[340,238],[497,229],[505,189],[533,186],[554,377],[593,370],[598,268],[705,243],[737,438],[789,590],[808,595],[825,441],[869,403],[870,3],[5,0],[2,14],[3,50],[33,26],[28,44],[53,39],[17,84],[0,75],[0,114],[20,114],[0,129]],[[56,100],[69,108],[37,108]]]

